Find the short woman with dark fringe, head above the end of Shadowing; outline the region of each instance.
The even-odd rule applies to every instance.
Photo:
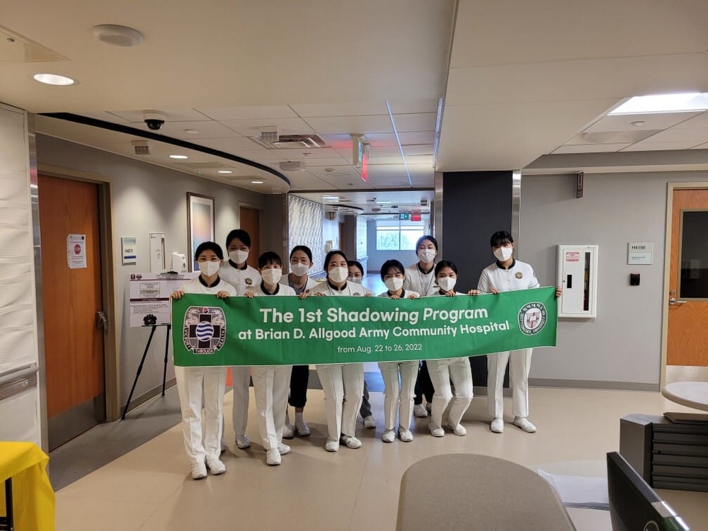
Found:
[[[397,260],[389,260],[381,266],[381,280],[387,287],[379,297],[389,299],[417,299],[421,295],[413,290],[404,290],[404,266]],[[396,440],[396,416],[399,417],[398,436],[403,442],[411,442],[411,416],[413,399],[416,396],[418,360],[381,361],[379,370],[384,380],[384,442]]]

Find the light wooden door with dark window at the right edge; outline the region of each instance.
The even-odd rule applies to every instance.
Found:
[[[708,190],[673,190],[667,365],[708,366]]]

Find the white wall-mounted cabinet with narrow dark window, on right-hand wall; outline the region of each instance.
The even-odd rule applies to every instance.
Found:
[[[598,246],[559,245],[559,317],[588,319],[598,315]]]

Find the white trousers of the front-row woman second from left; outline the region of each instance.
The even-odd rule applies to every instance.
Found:
[[[251,367],[253,394],[256,396],[258,430],[265,450],[278,448],[285,426],[287,393],[292,365]]]

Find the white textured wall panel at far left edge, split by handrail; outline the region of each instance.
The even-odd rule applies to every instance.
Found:
[[[0,375],[39,363],[27,116],[0,105]],[[40,445],[37,386],[0,401],[0,440]]]

